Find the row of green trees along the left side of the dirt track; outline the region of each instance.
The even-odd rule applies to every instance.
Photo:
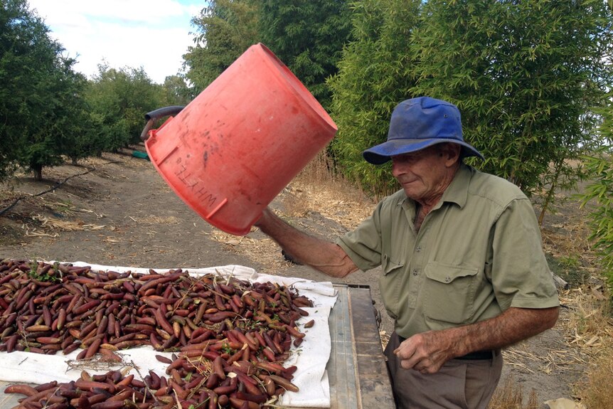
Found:
[[[26,0],[1,2],[0,180],[21,167],[42,178],[43,166],[114,151],[139,141],[144,114],[193,97],[185,78],[151,82],[142,68],[100,65],[87,80],[49,36]]]

